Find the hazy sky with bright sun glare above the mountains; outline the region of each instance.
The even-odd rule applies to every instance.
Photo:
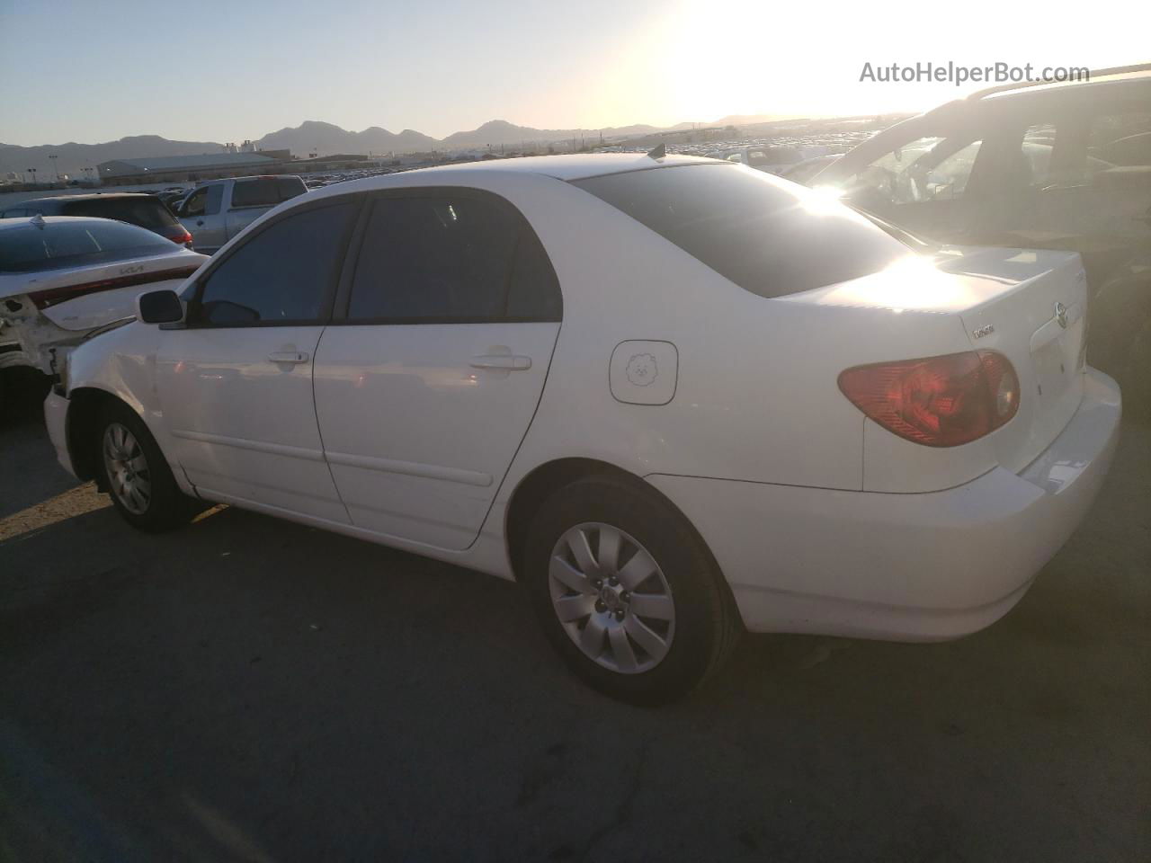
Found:
[[[599,128],[922,109],[976,86],[860,83],[863,63],[1151,60],[1151,5],[1096,9],[1007,0],[0,0],[0,142],[242,140],[304,120],[442,137],[493,119]]]

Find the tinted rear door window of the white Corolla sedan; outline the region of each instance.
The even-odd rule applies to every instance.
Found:
[[[349,320],[558,321],[562,312],[551,262],[510,205],[471,194],[373,205]]]

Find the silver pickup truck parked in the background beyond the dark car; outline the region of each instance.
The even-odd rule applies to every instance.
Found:
[[[295,176],[212,180],[193,189],[175,212],[192,235],[192,249],[213,254],[272,207],[306,191]]]

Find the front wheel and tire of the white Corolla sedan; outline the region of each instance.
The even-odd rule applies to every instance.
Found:
[[[94,441],[100,487],[120,515],[148,533],[170,530],[196,512],[144,421],[128,405],[108,404]]]

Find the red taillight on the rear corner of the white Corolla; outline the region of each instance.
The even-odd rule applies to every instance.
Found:
[[[1019,410],[1019,377],[994,351],[848,368],[839,389],[856,407],[908,441],[959,446],[994,432]]]

